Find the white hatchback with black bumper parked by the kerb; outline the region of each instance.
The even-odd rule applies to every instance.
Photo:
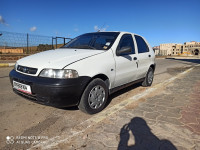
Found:
[[[18,60],[10,79],[14,92],[32,101],[94,114],[111,93],[136,82],[150,86],[154,70],[155,54],[143,37],[95,32]]]

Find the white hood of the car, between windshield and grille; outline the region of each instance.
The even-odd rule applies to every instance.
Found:
[[[87,50],[87,49],[55,49],[40,52],[34,55],[24,57],[17,61],[18,65],[38,68],[62,69],[65,66],[79,61],[81,59],[91,57],[103,53],[103,50]]]

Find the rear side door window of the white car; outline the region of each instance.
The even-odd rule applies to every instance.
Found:
[[[149,52],[149,47],[146,42],[142,39],[142,37],[135,35],[135,39],[138,46],[138,53],[146,53]]]

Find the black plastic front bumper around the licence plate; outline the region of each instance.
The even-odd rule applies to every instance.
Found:
[[[54,107],[76,106],[90,81],[90,77],[82,76],[74,79],[53,79],[24,75],[14,69],[10,72],[10,81],[30,85],[32,94],[13,91],[29,100]]]

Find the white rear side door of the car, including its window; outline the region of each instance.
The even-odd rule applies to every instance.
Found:
[[[145,77],[150,63],[151,63],[151,53],[150,49],[145,42],[145,40],[138,35],[135,35],[135,40],[137,43],[137,49],[138,49],[138,79]]]

